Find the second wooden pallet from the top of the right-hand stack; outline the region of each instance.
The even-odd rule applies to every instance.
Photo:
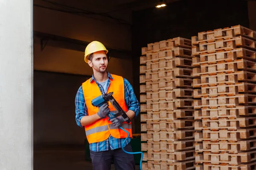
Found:
[[[235,37],[230,40],[221,40],[209,42],[199,46],[192,46],[192,56],[200,56],[201,54],[212,54],[222,51],[230,51],[236,48],[247,48],[256,51],[256,41],[245,37]]]

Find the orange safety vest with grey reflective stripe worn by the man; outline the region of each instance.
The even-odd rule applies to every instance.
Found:
[[[123,78],[113,74],[111,74],[111,76],[113,77],[113,80],[110,79],[111,83],[109,85],[107,94],[114,92],[113,97],[116,99],[116,102],[118,102],[121,108],[127,112],[128,109],[125,104],[125,88]],[[90,79],[88,79],[86,82],[82,83],[82,88],[88,115],[90,116],[96,114],[99,111],[99,108],[93,106],[91,102],[96,97],[102,95],[101,91],[99,90],[99,86],[95,81],[90,82]],[[113,107],[113,105],[110,102],[108,103],[110,111],[115,111],[116,109]],[[130,133],[129,137],[131,137],[131,122],[129,124],[127,124],[127,122],[123,122],[122,127]],[[108,116],[106,118],[99,119],[91,125],[86,125],[84,128],[89,143],[102,142],[108,139],[110,135],[117,139],[126,138],[128,135],[122,129],[115,127],[111,121],[108,120]]]

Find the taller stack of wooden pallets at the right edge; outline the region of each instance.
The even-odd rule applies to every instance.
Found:
[[[256,169],[256,32],[242,26],[192,37],[197,170]],[[200,102],[198,102],[200,103]]]

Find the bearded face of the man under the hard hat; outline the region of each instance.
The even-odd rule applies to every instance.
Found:
[[[88,60],[88,64],[93,70],[105,73],[108,67],[108,57],[105,51],[97,51],[93,53],[93,59],[92,61]]]

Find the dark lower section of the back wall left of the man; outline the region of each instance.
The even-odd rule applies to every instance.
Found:
[[[76,125],[76,92],[91,76],[34,71],[34,145],[84,144]]]

